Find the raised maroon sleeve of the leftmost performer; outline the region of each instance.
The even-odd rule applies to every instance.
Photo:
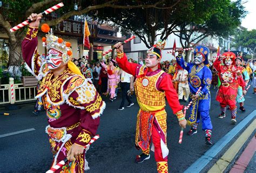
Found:
[[[29,26],[26,37],[22,41],[22,56],[28,71],[35,75],[38,80],[41,80],[47,72],[47,67],[44,59],[41,58],[37,51],[37,32],[38,27]]]

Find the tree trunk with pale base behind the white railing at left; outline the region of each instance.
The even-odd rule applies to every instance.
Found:
[[[21,77],[20,65],[22,63],[22,49],[21,49],[21,40],[12,41],[9,39],[9,61],[8,61],[8,72],[12,77]]]

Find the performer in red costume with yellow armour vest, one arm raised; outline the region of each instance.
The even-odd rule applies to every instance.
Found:
[[[140,109],[137,115],[135,144],[143,153],[137,156],[136,162],[142,163],[150,158],[152,137],[151,150],[154,151],[158,172],[168,172],[165,96],[173,113],[178,117],[179,125],[185,128],[187,123],[170,75],[160,70],[161,50],[164,49],[164,45],[159,41],[147,51],[145,65],[129,63],[122,44],[114,45],[117,48],[119,67],[136,77],[134,89]]]

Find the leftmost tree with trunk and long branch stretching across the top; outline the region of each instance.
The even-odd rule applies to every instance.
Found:
[[[11,26],[15,26],[23,22],[31,13],[40,13],[59,2],[60,1],[50,0],[3,1],[3,7],[0,10],[0,26],[5,29],[9,36],[10,57],[8,66],[9,71],[12,74],[17,75],[17,71],[20,72],[19,65],[22,63],[21,43],[25,37],[26,27],[23,27],[16,32],[10,32]],[[64,0],[64,7],[56,11],[59,17],[54,20],[46,21],[46,23],[48,23],[50,26],[55,26],[63,20],[69,19],[71,16],[84,15],[90,11],[96,11],[105,7],[111,9],[161,8],[163,5],[157,1],[154,4],[139,4],[140,1],[132,2],[136,2],[135,5],[127,6],[125,4],[120,4],[118,0]]]

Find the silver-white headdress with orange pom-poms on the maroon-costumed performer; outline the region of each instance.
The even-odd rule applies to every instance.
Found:
[[[48,24],[43,24],[41,30],[48,33],[42,38],[43,46],[46,47],[47,50],[54,49],[62,53],[63,62],[68,63],[68,61],[72,59],[71,43],[53,35],[52,29],[50,29]]]

